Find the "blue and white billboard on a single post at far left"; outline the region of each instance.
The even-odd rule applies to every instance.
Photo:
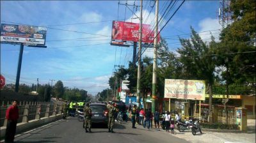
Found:
[[[1,24],[1,43],[45,45],[45,27]]]

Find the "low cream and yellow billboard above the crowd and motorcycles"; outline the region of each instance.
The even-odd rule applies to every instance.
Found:
[[[164,98],[205,100],[205,81],[165,79]]]

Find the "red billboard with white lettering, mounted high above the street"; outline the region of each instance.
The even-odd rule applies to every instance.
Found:
[[[139,41],[140,24],[122,21],[113,21],[112,23],[112,40],[122,41]],[[159,41],[160,35],[157,36]],[[142,25],[142,42],[154,43],[154,29],[149,24]]]

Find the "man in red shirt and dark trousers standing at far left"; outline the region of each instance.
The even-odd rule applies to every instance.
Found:
[[[6,132],[4,137],[4,142],[13,142],[17,120],[19,119],[19,109],[17,107],[17,101],[13,101],[12,105],[6,110]]]

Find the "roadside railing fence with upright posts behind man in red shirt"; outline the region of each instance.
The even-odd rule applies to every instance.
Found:
[[[12,102],[1,102],[0,126],[6,126],[5,113]],[[54,102],[19,102],[19,119],[17,123],[28,123],[33,119],[56,116],[61,114],[62,105]]]

